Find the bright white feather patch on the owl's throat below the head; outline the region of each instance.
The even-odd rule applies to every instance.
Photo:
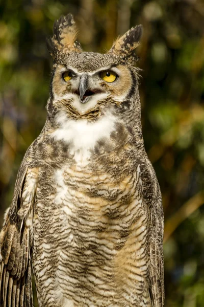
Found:
[[[94,149],[97,141],[110,138],[115,121],[110,113],[95,122],[88,122],[87,119],[68,119],[61,111],[56,116],[60,128],[52,133],[52,137],[70,144],[70,153],[74,155],[75,161],[85,161],[90,157],[90,150]]]

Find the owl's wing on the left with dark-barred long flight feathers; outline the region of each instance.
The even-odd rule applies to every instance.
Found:
[[[0,305],[33,306],[31,247],[37,168],[22,162],[14,196],[0,233]]]

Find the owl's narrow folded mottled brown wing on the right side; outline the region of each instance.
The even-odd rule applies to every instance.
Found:
[[[164,306],[163,232],[164,217],[162,196],[156,173],[148,157],[138,155],[137,176],[142,182],[142,198],[150,213],[149,221],[149,295],[152,307]]]

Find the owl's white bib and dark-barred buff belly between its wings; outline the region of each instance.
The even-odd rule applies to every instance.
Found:
[[[144,287],[149,214],[140,168],[116,178],[106,159],[94,158],[96,144],[110,142],[114,128],[109,116],[95,126],[67,122],[53,133],[56,141],[69,143],[72,158],[52,169],[45,202],[41,184],[37,191],[33,262],[38,291],[45,295],[39,297],[42,306],[149,306]],[[110,149],[105,156],[114,153]],[[45,172],[39,177],[44,189]]]

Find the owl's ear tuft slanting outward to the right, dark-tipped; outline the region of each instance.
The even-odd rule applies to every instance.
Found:
[[[129,57],[133,55],[133,51],[138,47],[142,35],[142,25],[131,28],[122,36],[119,36],[113,43],[108,53],[115,54],[120,57]]]

